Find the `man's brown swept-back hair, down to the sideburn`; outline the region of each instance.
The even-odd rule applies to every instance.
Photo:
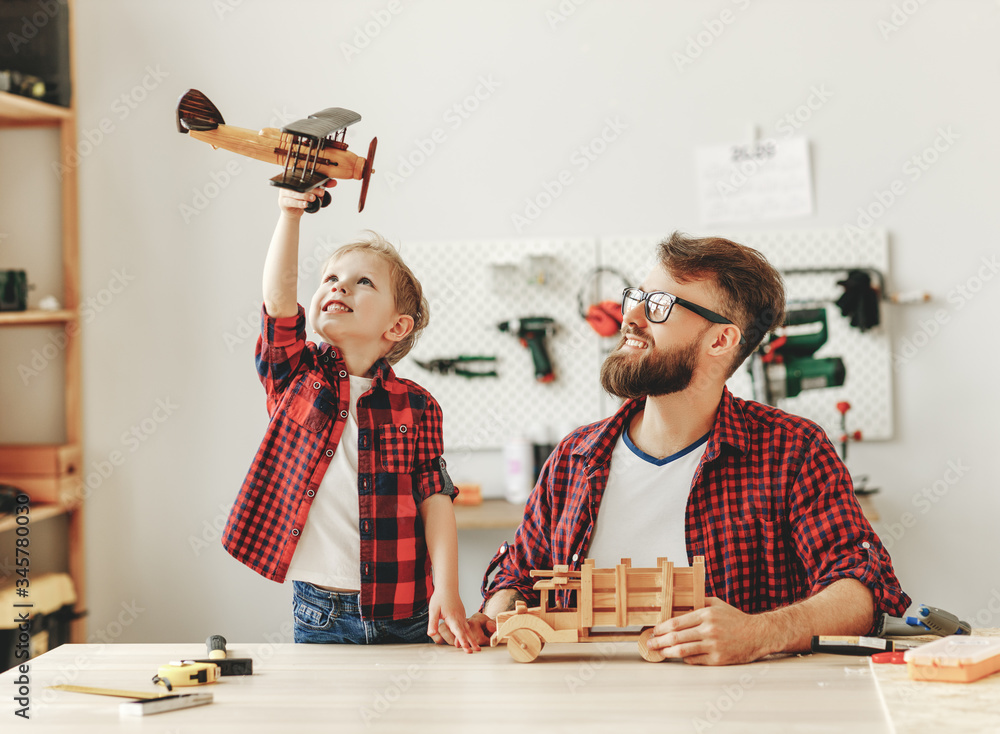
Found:
[[[674,232],[658,246],[660,264],[679,283],[712,282],[720,297],[719,312],[746,340],[730,367],[743,364],[769,331],[785,316],[785,284],[774,266],[757,250],[722,237],[689,237]]]

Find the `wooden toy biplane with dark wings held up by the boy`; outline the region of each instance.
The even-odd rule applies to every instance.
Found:
[[[359,212],[365,208],[378,143],[378,138],[372,138],[367,158],[347,150],[347,143],[344,142],[347,128],[360,119],[361,115],[357,112],[330,107],[281,130],[266,127],[255,133],[227,125],[218,108],[197,89],[189,89],[177,101],[178,132],[206,142],[213,148],[223,148],[282,166],[282,173],[271,179],[272,186],[305,192],[324,185],[331,178],[361,181]],[[324,191],[322,203],[317,199],[310,203],[306,211],[318,211],[320,206],[329,203],[330,192]]]

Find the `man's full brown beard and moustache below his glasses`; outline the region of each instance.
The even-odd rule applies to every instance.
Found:
[[[649,340],[644,338],[648,344]],[[625,336],[601,365],[601,387],[621,398],[642,398],[647,395],[669,395],[691,384],[697,364],[699,340],[678,347],[668,354],[646,347],[644,353],[623,352]]]

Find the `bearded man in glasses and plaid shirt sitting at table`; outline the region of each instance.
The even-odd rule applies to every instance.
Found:
[[[902,614],[910,600],[823,430],[725,387],[784,314],[777,271],[714,237],[674,233],[659,257],[625,291],[622,338],[601,369],[625,403],[546,462],[488,590],[484,579],[473,636],[485,642],[515,601],[538,603],[531,569],[587,557],[705,557],[712,598],[649,642],[689,663],[803,651],[813,635],[866,634],[883,612]]]

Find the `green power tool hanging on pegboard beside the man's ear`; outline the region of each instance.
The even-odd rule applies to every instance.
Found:
[[[843,385],[846,371],[840,357],[813,356],[827,337],[825,308],[788,311],[781,334],[772,334],[763,353],[752,355],[754,399],[776,405],[803,390]]]

